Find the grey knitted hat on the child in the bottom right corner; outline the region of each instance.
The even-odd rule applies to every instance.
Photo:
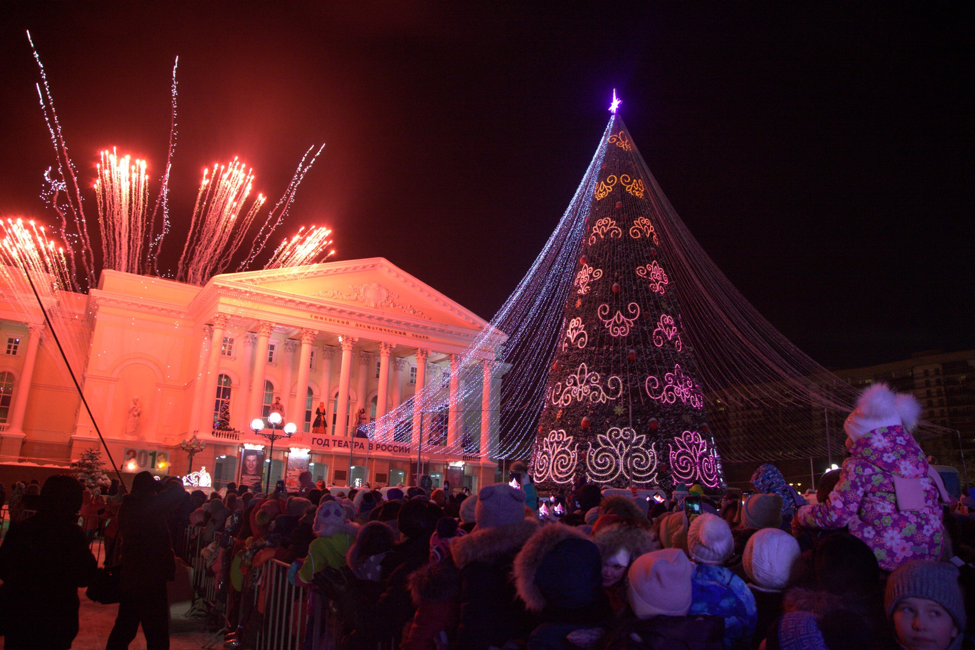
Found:
[[[883,607],[890,617],[904,598],[933,600],[952,615],[958,630],[965,629],[965,602],[958,587],[958,570],[947,562],[911,560],[897,567],[887,579]]]

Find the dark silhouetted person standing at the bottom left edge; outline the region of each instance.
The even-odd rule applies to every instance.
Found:
[[[98,562],[78,525],[83,488],[59,474],[44,481],[37,514],[0,546],[0,628],[8,650],[70,648],[78,634],[78,588]]]

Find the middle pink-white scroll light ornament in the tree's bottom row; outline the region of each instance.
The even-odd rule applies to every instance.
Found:
[[[653,483],[659,461],[646,435],[631,427],[609,427],[596,436],[586,454],[586,469],[597,481],[612,483],[622,478],[627,484]]]

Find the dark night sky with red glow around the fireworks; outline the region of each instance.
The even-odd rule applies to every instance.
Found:
[[[158,179],[178,55],[176,230],[204,167],[240,156],[273,203],[326,142],[279,234],[326,223],[335,259],[387,258],[489,318],[562,216],[615,88],[704,249],[817,361],[975,347],[970,4],[75,4],[5,7],[5,217],[53,223],[24,29],[89,186],[113,145]]]

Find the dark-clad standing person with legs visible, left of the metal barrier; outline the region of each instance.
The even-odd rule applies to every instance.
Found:
[[[178,481],[162,484],[148,471],[132,482],[132,494],[119,508],[122,537],[122,597],[105,650],[126,650],[142,624],[146,650],[169,650],[170,606],[166,583],[176,578],[176,558],[166,520],[183,501]]]

